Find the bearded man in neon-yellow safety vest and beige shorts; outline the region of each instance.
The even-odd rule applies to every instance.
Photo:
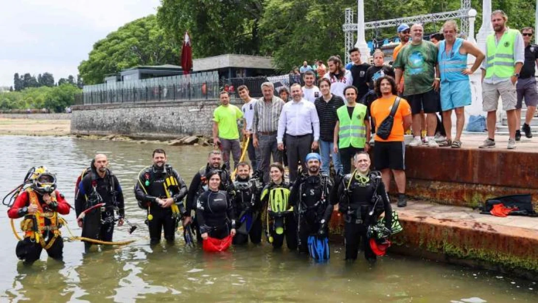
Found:
[[[525,61],[525,45],[518,30],[508,29],[506,13],[497,10],[491,13],[494,33],[487,36],[486,60],[482,62],[482,107],[487,111],[488,137],[480,148],[495,147],[495,123],[499,96],[502,110],[508,120],[508,149],[515,149],[516,90],[519,72]]]

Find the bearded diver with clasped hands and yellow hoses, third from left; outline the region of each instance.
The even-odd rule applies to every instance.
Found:
[[[187,185],[179,173],[166,164],[165,151],[154,150],[153,165],[140,171],[134,185],[138,206],[147,210],[151,245],[161,241],[163,229],[166,241],[174,242],[179,220],[186,215],[182,201],[186,194]]]

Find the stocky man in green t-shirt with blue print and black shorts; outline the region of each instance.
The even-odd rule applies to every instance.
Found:
[[[437,126],[437,114],[441,103],[439,97],[440,76],[437,67],[437,47],[430,41],[422,39],[423,28],[420,24],[411,27],[411,43],[398,53],[393,67],[396,69],[396,83],[404,75],[404,96],[411,105],[413,114],[413,135],[411,146],[422,145],[420,139],[421,111],[427,114],[428,146],[439,146],[434,133]]]

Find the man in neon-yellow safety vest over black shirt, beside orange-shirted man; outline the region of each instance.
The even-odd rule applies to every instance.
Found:
[[[347,105],[336,110],[338,121],[334,132],[334,152],[340,152],[343,174],[351,173],[351,159],[370,147],[370,116],[364,104],[357,103],[358,89],[344,88]]]

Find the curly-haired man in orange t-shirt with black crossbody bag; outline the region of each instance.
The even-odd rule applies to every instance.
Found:
[[[370,114],[376,129],[390,115],[392,107],[396,101],[397,86],[390,76],[379,77],[376,80],[376,94],[378,99],[370,107]],[[394,174],[394,181],[398,189],[398,207],[407,206],[405,195],[405,142],[404,132],[409,129],[412,123],[411,107],[403,98],[400,98],[398,109],[394,114],[390,136],[381,139],[377,134],[374,137],[374,167],[381,171],[381,178],[389,191],[391,172]]]

